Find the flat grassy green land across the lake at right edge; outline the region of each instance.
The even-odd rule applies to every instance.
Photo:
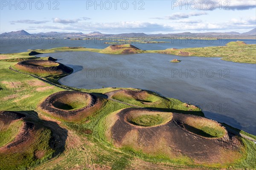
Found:
[[[158,53],[182,56],[219,57],[225,61],[256,63],[256,44],[246,44],[243,41],[230,42],[227,43],[226,46],[165,49],[158,51]]]

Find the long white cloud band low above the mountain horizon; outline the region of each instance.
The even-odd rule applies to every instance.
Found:
[[[47,29],[58,32],[84,32],[89,33],[99,31],[102,33],[129,33],[129,32],[188,32],[188,31],[205,31],[212,30],[241,30],[253,29],[256,27],[255,17],[251,18],[234,18],[227,22],[207,22],[204,20],[173,20],[169,23],[153,23],[140,21],[123,21],[123,22],[108,22],[108,23],[94,23],[94,22],[78,22],[72,25],[68,24],[53,24],[52,26],[30,26],[29,29]],[[253,22],[254,21],[254,22]]]

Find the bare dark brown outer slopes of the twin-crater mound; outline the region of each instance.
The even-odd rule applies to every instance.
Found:
[[[111,128],[111,134],[114,144],[118,147],[122,147],[124,145],[124,140],[129,138],[129,142],[134,142],[130,143],[134,148],[143,150],[146,153],[151,153],[150,148],[156,148],[160,147],[159,145],[163,145],[166,146],[166,148],[172,148],[173,153],[182,153],[198,163],[221,163],[224,161],[223,151],[230,150],[230,152],[237,152],[242,147],[239,138],[230,133],[224,135],[222,138],[213,139],[205,138],[186,130],[182,124],[183,120],[186,119],[186,117],[194,117],[195,115],[173,113],[172,121],[160,126],[145,128],[133,126],[125,121],[125,115],[134,111],[145,112],[146,109],[128,108],[117,113],[118,119]],[[201,118],[199,116],[195,117]],[[136,132],[138,134],[135,141],[134,139],[131,139],[132,137],[130,138],[128,136],[128,134],[132,134],[131,132]],[[162,149],[162,151],[163,150],[164,149]]]

